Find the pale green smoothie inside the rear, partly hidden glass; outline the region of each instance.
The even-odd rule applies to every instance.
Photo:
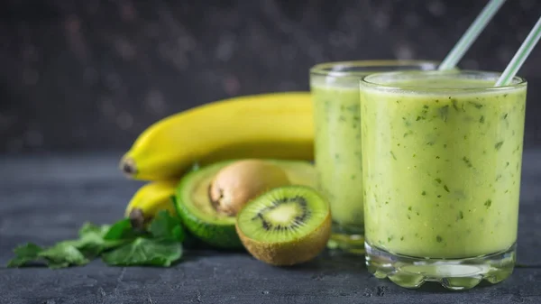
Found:
[[[319,188],[330,201],[333,221],[349,233],[362,234],[359,88],[313,85],[311,92]]]

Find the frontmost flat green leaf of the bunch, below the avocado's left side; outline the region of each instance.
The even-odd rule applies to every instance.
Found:
[[[163,266],[168,267],[182,256],[182,246],[173,240],[139,237],[132,243],[102,255],[102,260],[114,266]]]

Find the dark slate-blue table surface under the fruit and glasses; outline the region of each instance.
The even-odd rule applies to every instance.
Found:
[[[292,268],[247,253],[197,251],[171,268],[8,269],[23,242],[73,238],[84,221],[112,223],[142,184],[116,169],[120,153],[0,158],[0,303],[540,303],[541,150],[526,151],[518,267],[497,285],[447,291],[399,288],[366,271],[363,257],[323,253]]]

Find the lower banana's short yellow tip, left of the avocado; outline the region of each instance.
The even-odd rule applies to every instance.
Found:
[[[178,180],[160,180],[143,185],[128,203],[124,216],[131,219],[132,226],[142,227],[161,210],[176,215],[171,196],[175,193],[177,182]]]

